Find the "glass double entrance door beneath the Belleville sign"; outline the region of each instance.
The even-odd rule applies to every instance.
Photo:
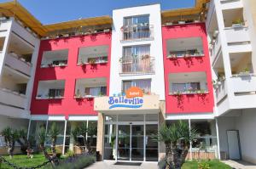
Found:
[[[118,126],[118,161],[143,161],[144,158],[144,126]]]

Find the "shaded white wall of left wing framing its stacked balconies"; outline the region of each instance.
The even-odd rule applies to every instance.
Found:
[[[13,100],[13,97],[4,97],[3,95],[0,95],[0,99],[5,99],[4,104],[1,104],[0,107],[0,114],[1,115],[6,115],[10,117],[15,117],[15,118],[29,118],[30,117],[30,103],[31,103],[31,97],[32,97],[32,86],[34,82],[34,76],[35,76],[35,70],[36,70],[36,65],[37,65],[37,60],[38,60],[38,50],[39,50],[39,44],[40,41],[37,37],[34,37],[32,35],[32,32],[27,31],[24,27],[22,27],[20,24],[18,24],[13,18],[10,18],[9,20],[4,21],[0,25],[0,37],[5,37],[5,42],[3,45],[3,51],[1,53],[0,57],[0,76],[2,76],[3,72],[3,65],[6,62],[6,58],[8,57],[7,50],[9,47],[9,39],[11,32],[17,34],[19,37],[23,38],[26,42],[28,42],[30,45],[33,46],[34,51],[32,54],[32,67],[30,68],[30,78],[29,81],[27,82],[26,85],[26,96],[24,99],[25,103],[22,104],[24,107],[24,110],[18,109],[15,107],[11,107],[6,105],[6,103],[11,103]],[[17,72],[17,75],[20,75],[19,72]],[[8,94],[8,93],[7,93]],[[12,93],[9,93],[12,94]],[[11,100],[6,100],[6,99],[11,99]]]

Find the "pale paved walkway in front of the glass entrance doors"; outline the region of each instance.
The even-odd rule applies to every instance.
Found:
[[[156,162],[143,162],[141,166],[114,165],[116,161],[100,161],[86,169],[158,169]]]

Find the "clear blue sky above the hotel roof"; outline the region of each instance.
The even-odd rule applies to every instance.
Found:
[[[9,0],[0,0],[4,3]],[[195,0],[18,0],[43,24],[78,20],[102,15],[112,15],[115,8],[160,3],[161,10],[188,8]]]

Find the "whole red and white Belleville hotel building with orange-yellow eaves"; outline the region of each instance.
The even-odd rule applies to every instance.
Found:
[[[196,0],[43,25],[20,3],[0,3],[0,130],[34,137],[55,122],[58,149],[80,153],[72,131],[85,122],[102,160],[159,161],[165,144],[150,136],[182,120],[199,132],[187,159],[256,163],[255,8]]]

